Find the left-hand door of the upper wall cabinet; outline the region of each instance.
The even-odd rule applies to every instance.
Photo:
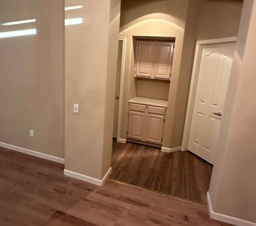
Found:
[[[137,41],[135,77],[152,77],[155,42]]]

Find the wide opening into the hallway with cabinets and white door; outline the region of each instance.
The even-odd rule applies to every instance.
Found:
[[[233,20],[224,10],[213,13],[215,9],[229,7],[230,1],[188,5],[185,27],[180,29],[180,23],[152,13],[159,10],[157,1],[152,2],[155,7],[147,8],[149,5],[145,2],[122,1],[119,35],[126,37],[126,45],[119,46],[118,56],[120,62],[120,49],[125,49],[125,91],[121,100],[122,85],[116,88],[115,122],[120,120],[120,130],[118,132],[116,123],[109,180],[207,204],[206,194],[214,164],[211,153],[216,148],[214,142],[218,138],[221,114],[225,116],[224,102],[220,100],[225,97],[224,85],[228,85],[232,65],[232,49],[226,51],[230,46],[212,41],[237,34],[235,30],[222,34],[216,21],[220,19],[219,23],[226,27],[233,23],[238,28],[239,9],[243,4],[235,3],[237,11],[232,13]],[[169,3],[166,1],[166,4]],[[145,14],[138,14],[138,6]],[[171,3],[168,9],[170,18],[179,10]],[[204,44],[196,48],[197,40],[207,41],[199,41]],[[118,68],[120,75],[120,63]],[[193,78],[189,85],[192,68]],[[211,78],[207,78],[209,75]],[[122,84],[122,73],[121,79],[117,77],[117,86],[119,84]],[[208,104],[206,99],[197,99],[197,87],[199,93],[204,90],[207,98],[213,97],[213,101]],[[194,104],[195,100],[198,104]],[[206,108],[201,109],[202,106]],[[120,114],[117,117],[118,108],[121,118]],[[208,119],[201,120],[203,129],[196,115]],[[204,139],[198,139],[198,134],[203,134]],[[198,148],[195,148],[197,143]]]

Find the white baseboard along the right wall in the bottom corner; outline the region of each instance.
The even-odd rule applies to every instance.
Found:
[[[210,195],[209,192],[207,192],[207,203],[208,203],[208,210],[210,218],[218,221],[222,221],[228,224],[236,225],[236,226],[256,226],[256,223],[246,221],[240,218],[236,218],[229,215],[224,215],[220,213],[216,213],[212,210],[211,201],[210,201]]]

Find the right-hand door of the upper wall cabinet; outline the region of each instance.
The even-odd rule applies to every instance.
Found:
[[[174,43],[156,42],[156,57],[153,77],[155,79],[170,79]]]

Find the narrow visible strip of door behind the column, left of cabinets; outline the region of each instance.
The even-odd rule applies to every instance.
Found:
[[[118,42],[118,56],[117,56],[117,71],[116,71],[116,97],[115,97],[115,113],[114,113],[114,129],[113,137],[117,137],[118,113],[119,113],[119,97],[120,97],[120,83],[121,83],[121,69],[122,69],[122,51],[123,41]]]

